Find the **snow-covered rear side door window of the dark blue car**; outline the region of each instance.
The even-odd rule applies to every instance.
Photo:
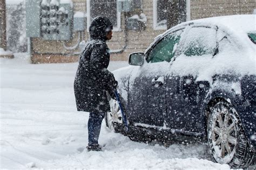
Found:
[[[216,42],[215,29],[194,27],[186,32],[181,53],[186,56],[214,55]]]

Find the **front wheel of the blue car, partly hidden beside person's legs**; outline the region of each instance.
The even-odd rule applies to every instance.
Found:
[[[106,122],[106,127],[109,128],[111,131],[114,131],[114,126],[113,123],[123,123],[122,120],[122,113],[120,111],[120,107],[118,105],[117,100],[110,99],[110,112],[106,113],[105,116],[105,122]]]

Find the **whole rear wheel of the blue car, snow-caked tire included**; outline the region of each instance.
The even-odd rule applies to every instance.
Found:
[[[207,124],[208,146],[213,159],[232,168],[248,167],[253,154],[235,108],[219,101],[211,109]]]

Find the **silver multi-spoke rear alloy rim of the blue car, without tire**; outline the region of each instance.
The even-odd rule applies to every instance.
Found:
[[[212,154],[217,162],[227,164],[235,153],[238,139],[238,120],[231,108],[220,102],[212,110],[210,142]]]

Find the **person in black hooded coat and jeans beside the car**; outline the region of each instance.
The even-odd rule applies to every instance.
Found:
[[[89,112],[87,151],[102,151],[98,144],[100,127],[105,113],[110,111],[106,92],[115,99],[113,89],[117,81],[107,70],[110,53],[106,40],[112,38],[112,29],[108,18],[94,18],[89,28],[90,39],[79,56],[74,92],[77,111]]]

